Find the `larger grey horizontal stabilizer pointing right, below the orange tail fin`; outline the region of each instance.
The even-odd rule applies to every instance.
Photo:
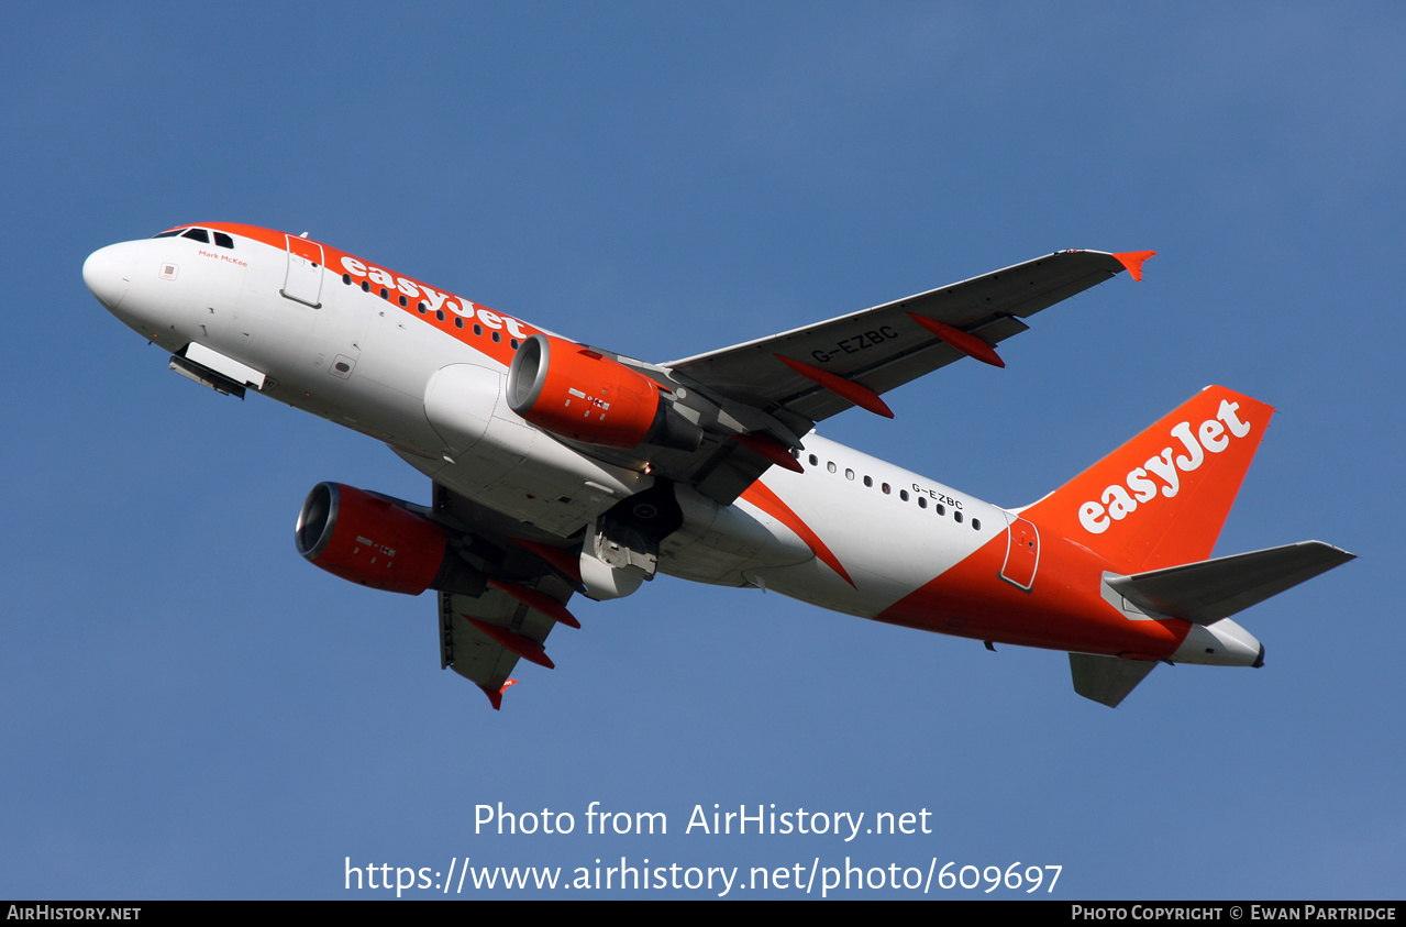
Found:
[[[1354,560],[1320,540],[1109,577],[1108,587],[1144,612],[1211,625]]]

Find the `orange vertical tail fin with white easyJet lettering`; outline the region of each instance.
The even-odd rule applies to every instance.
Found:
[[[1272,415],[1206,387],[1022,515],[1122,573],[1206,560]]]

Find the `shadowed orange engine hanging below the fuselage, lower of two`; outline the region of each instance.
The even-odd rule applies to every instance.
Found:
[[[450,550],[443,528],[340,482],[314,487],[298,513],[295,539],[308,563],[373,589],[406,595],[484,589],[484,577]]]

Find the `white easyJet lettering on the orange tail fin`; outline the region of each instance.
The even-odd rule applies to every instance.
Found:
[[[1199,468],[1206,461],[1206,454],[1219,454],[1230,446],[1232,439],[1250,433],[1251,422],[1243,421],[1239,411],[1239,402],[1222,399],[1216,416],[1201,422],[1195,430],[1191,422],[1175,425],[1170,435],[1177,445],[1164,447],[1143,466],[1133,467],[1128,471],[1126,481],[1109,485],[1099,501],[1080,505],[1078,523],[1091,535],[1102,535],[1114,522],[1123,520],[1159,495],[1168,499],[1175,497],[1181,491],[1182,473]]]

